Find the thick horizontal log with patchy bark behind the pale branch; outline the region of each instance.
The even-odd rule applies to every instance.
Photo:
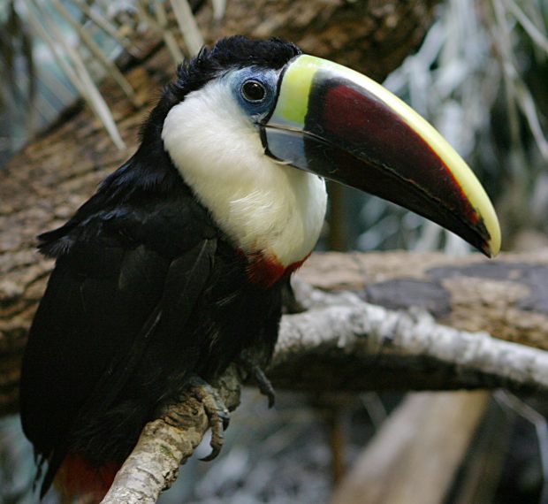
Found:
[[[546,250],[529,255],[502,255],[494,261],[479,255],[455,258],[402,252],[331,253],[312,256],[299,277],[323,288],[353,290],[365,301],[389,309],[415,306],[430,312],[439,323],[455,329],[484,331],[500,340],[543,350],[548,347],[545,337],[548,330]],[[325,355],[331,365],[336,363],[337,357],[331,351]],[[424,360],[425,354],[400,362],[399,357],[392,358],[390,348],[386,347],[382,352],[379,350],[378,355],[370,356],[370,362],[358,359],[353,367],[350,356],[339,355],[344,358],[345,365],[337,366],[337,373],[331,377],[322,371],[326,362],[321,349],[316,351],[314,358],[305,352],[289,354],[270,376],[278,386],[294,388],[299,383],[302,387],[330,387],[333,390],[350,386],[356,389],[473,386],[473,377],[465,383],[463,376],[457,378],[454,372],[457,369],[449,369],[450,363],[425,372],[431,364]],[[304,367],[301,359],[306,359],[310,365]],[[400,373],[404,368],[406,371]],[[418,373],[415,374],[415,370]]]

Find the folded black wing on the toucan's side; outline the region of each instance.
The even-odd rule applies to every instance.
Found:
[[[96,430],[117,429],[120,413],[128,423],[121,436],[134,438],[141,430],[153,398],[141,401],[141,411],[118,404],[118,416],[112,403],[127,395],[145,353],[141,382],[154,381],[162,339],[185,327],[217,249],[217,229],[182,185],[169,196],[113,202],[103,210],[92,203],[93,211],[80,210],[63,231],[45,236],[43,248],[57,255],[57,264],[22,367],[23,428],[37,453],[49,458],[49,479],[74,439],[87,443]],[[194,369],[197,355],[180,355],[182,374]],[[119,445],[116,437],[112,442]],[[127,442],[131,447],[132,439]],[[116,456],[126,446],[99,447],[112,450]]]

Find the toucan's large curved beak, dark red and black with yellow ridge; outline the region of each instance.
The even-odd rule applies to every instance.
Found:
[[[293,58],[261,127],[269,156],[398,203],[487,256],[499,252],[499,221],[468,165],[426,120],[361,73]]]

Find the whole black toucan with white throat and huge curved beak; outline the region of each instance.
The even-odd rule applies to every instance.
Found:
[[[499,251],[473,172],[385,88],[277,38],[201,50],[164,88],[133,157],[39,237],[56,265],[20,412],[48,465],[42,495],[55,479],[67,500],[100,500],[166,402],[246,353],[269,363],[282,294],[323,227],[325,179]]]

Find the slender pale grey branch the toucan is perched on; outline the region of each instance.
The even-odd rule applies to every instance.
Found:
[[[445,388],[451,384],[548,391],[544,350],[492,338],[486,332],[439,325],[422,310],[384,309],[352,293],[324,293],[302,281],[296,282],[295,293],[308,310],[282,319],[269,372],[275,385],[358,391],[399,383],[409,389],[427,386],[424,377],[434,370],[436,378],[443,369]],[[322,377],[311,378],[309,373],[317,372],[318,362]],[[399,378],[389,378],[394,375]],[[237,405],[233,398],[238,396],[239,384],[233,368],[216,384],[221,397],[231,401],[229,408]],[[440,385],[435,380],[433,384],[434,388]],[[186,396],[171,405],[145,427],[103,504],[156,502],[162,489],[174,481],[180,463],[193,454],[208,424],[195,397]]]

